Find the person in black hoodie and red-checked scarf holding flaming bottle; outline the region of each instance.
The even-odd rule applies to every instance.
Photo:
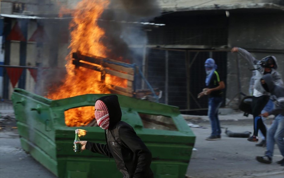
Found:
[[[106,144],[79,141],[81,150],[90,150],[113,157],[124,178],[153,178],[152,155],[134,129],[121,121],[121,109],[116,95],[100,97],[95,103],[98,126],[105,129]]]

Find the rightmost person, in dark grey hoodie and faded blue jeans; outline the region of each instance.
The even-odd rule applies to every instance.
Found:
[[[273,98],[275,107],[273,110],[261,114],[263,117],[267,117],[269,115],[275,115],[275,119],[273,124],[269,127],[267,131],[267,151],[265,156],[263,157],[256,157],[257,161],[260,163],[270,164],[272,163],[273,157],[273,150],[274,150],[274,143],[278,145],[280,153],[284,157],[284,88],[277,86],[273,82],[273,78],[271,74],[265,74],[260,79],[262,87],[265,91],[271,94],[270,98]],[[284,166],[284,158],[281,161],[277,162]]]

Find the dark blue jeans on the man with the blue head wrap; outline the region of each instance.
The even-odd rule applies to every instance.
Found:
[[[218,118],[218,109],[222,104],[222,97],[208,98],[208,117],[211,123],[211,136],[218,136],[221,134],[220,122]]]

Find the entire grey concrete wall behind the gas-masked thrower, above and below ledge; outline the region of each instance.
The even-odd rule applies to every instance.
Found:
[[[231,13],[228,46],[244,48],[261,60],[274,55],[284,79],[284,22],[282,13]],[[240,61],[241,91],[248,94],[252,66],[240,55],[228,53],[227,97],[237,93],[236,58]]]

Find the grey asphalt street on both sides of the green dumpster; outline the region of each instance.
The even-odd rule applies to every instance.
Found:
[[[3,110],[2,110],[3,111]],[[1,111],[1,112],[2,112]],[[11,114],[12,116],[12,114]],[[252,121],[242,116],[242,113],[221,115],[223,127],[222,138],[217,141],[207,141],[210,134],[210,124],[206,116],[191,116],[187,120],[202,128],[193,128],[196,135],[196,155],[192,155],[187,176],[192,178],[283,178],[284,169],[275,163],[281,160],[278,147],[272,164],[262,164],[255,160],[262,156],[265,148],[256,147],[255,143],[246,138],[231,138],[224,133],[224,128],[233,132],[252,131]],[[267,120],[267,124],[270,120]],[[50,171],[34,160],[21,149],[15,120],[10,119],[0,130],[0,177],[1,178],[55,178]],[[194,154],[195,154],[194,153]]]

